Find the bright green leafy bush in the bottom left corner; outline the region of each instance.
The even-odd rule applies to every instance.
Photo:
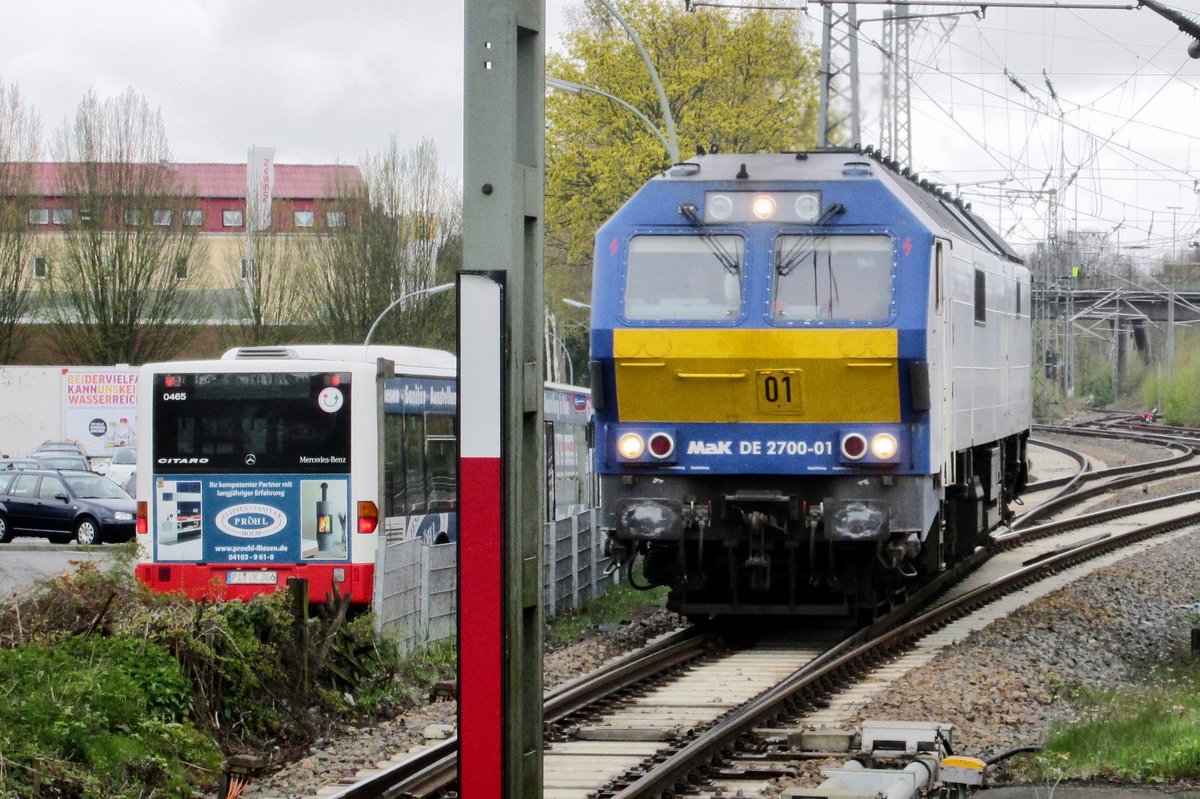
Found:
[[[0,793],[190,795],[220,767],[188,720],[179,663],[143,639],[70,637],[0,650]]]

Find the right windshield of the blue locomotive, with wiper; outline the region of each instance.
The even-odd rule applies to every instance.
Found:
[[[779,320],[887,319],[892,262],[888,236],[779,236],[772,316]]]

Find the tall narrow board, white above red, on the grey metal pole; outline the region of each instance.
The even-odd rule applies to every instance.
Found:
[[[505,795],[504,274],[458,274],[458,795]]]

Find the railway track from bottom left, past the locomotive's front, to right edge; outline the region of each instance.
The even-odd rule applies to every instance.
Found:
[[[1177,469],[1187,457],[1189,452],[1177,451],[1138,465],[1156,479],[1165,479],[1170,474],[1164,470]],[[1126,467],[1087,470],[1086,463],[1085,458],[1079,473],[1092,475],[1092,480],[1111,481],[1133,471]],[[1111,482],[1104,487],[1111,489]],[[1189,507],[1180,511],[1181,504]],[[970,578],[948,576],[930,587],[925,600],[932,609],[907,620],[889,617],[848,638],[767,637],[718,657],[710,637],[696,631],[679,633],[656,644],[654,651],[623,659],[619,668],[628,671],[589,675],[547,697],[544,795],[679,795],[680,786],[689,797],[737,795],[737,791],[756,795],[767,781],[787,773],[780,763],[806,757],[796,746],[780,745],[778,741],[790,740],[782,733],[838,723],[839,708],[845,709],[845,699],[839,697],[869,690],[881,663],[896,661],[904,653],[916,659],[913,662],[928,660],[936,643],[922,642],[941,641],[944,645],[948,638],[965,635],[962,630],[988,624],[1007,612],[1004,605],[996,603],[1000,597],[1027,590],[1031,583],[1074,564],[1195,523],[1200,523],[1200,492],[1060,522],[1034,525],[1031,521],[997,536],[997,551],[971,564],[978,569]],[[1103,524],[1110,528],[1097,531]],[[936,601],[931,599],[935,595],[940,595]],[[992,609],[980,612],[988,603],[995,603]],[[912,612],[906,608],[901,614]],[[672,654],[664,654],[667,651]],[[672,657],[673,662],[662,665]],[[912,667],[896,661],[890,668]],[[672,672],[680,678],[676,683],[656,677]],[[646,687],[630,691],[631,683]],[[624,686],[623,696],[613,698],[613,685]],[[749,747],[730,756],[739,751],[739,739],[749,741]],[[455,745],[450,739],[329,795],[450,795]]]

